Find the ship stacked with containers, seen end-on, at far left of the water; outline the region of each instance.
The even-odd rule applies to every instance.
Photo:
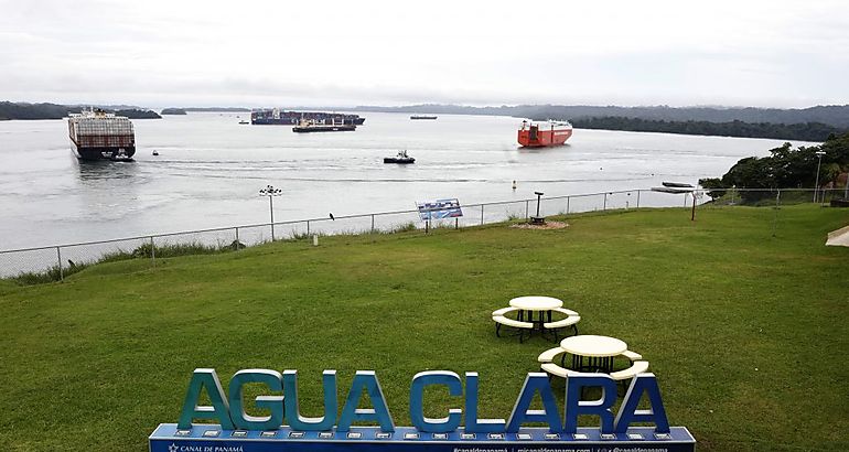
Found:
[[[67,125],[77,159],[132,160],[136,153],[136,133],[128,118],[89,110],[71,115]]]

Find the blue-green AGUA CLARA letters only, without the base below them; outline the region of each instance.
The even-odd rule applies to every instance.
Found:
[[[256,384],[268,388],[268,392],[282,392],[257,396],[251,401],[268,416],[251,416],[246,411],[244,388],[246,385]],[[225,392],[215,369],[198,368],[194,370],[189,384],[176,428],[191,430],[194,420],[203,419],[217,422],[223,430],[270,431],[286,423],[291,430],[300,432],[333,429],[337,432],[348,432],[355,422],[377,424],[381,432],[396,430],[389,406],[374,372],[356,373],[338,416],[336,372],[324,370],[322,384],[324,416],[308,418],[301,415],[299,408],[297,370],[284,370],[282,374],[269,369],[239,370],[230,379]],[[462,408],[450,408],[442,418],[426,417],[423,401],[424,388],[428,386],[444,386],[451,396],[462,396]],[[628,427],[637,422],[654,424],[654,433],[669,433],[669,422],[654,374],[634,377],[615,415],[613,407],[617,396],[616,381],[606,374],[570,376],[566,381],[566,401],[561,413],[548,376],[542,373],[529,373],[506,421],[477,417],[477,388],[479,375],[474,372],[465,373],[465,387],[463,379],[453,372],[430,370],[416,374],[409,390],[412,427],[423,433],[447,433],[460,429],[464,420],[465,433],[517,433],[525,423],[541,422],[550,433],[577,433],[578,417],[589,415],[600,419],[599,431],[602,434],[626,433]],[[595,400],[582,400],[584,388],[601,388],[601,397]],[[207,395],[211,405],[198,405],[203,394]],[[535,396],[539,396],[542,401],[541,410],[530,409]],[[644,396],[648,408],[640,409],[638,405]],[[363,399],[366,397],[372,408],[359,408],[365,405]]]

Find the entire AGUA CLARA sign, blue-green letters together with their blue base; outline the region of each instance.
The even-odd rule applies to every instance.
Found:
[[[557,405],[559,395],[552,390],[549,377],[530,373],[525,376],[509,420],[505,422],[504,419],[479,419],[477,373],[465,373],[463,387],[456,373],[421,372],[413,376],[409,388],[412,427],[395,426],[389,403],[372,370],[356,372],[338,417],[336,372],[324,370],[322,384],[324,416],[309,418],[301,415],[297,370],[282,374],[270,369],[239,370],[230,378],[225,392],[214,369],[195,369],[179,422],[157,428],[150,437],[150,452],[367,452],[376,449],[401,452],[453,452],[456,449],[692,452],[696,444],[686,428],[669,427],[654,374],[640,374],[632,379],[615,415],[613,407],[617,391],[613,378],[606,374],[570,376],[566,389],[560,392],[563,397],[561,415]],[[246,400],[247,385],[258,385],[262,388],[261,395]],[[453,398],[453,402],[439,410],[447,416],[424,416],[426,388],[429,386],[441,386]],[[601,396],[584,400],[588,388],[600,388]],[[204,394],[209,400],[208,406],[198,405]],[[429,394],[428,397],[433,397]],[[542,409],[531,409],[537,395]],[[648,408],[640,409],[644,396]],[[366,397],[373,408],[359,408]],[[247,403],[267,416],[249,415]],[[598,417],[598,427],[578,427],[579,416]],[[211,423],[193,423],[195,420]],[[530,422],[546,427],[524,427]],[[654,427],[632,427],[635,423]]]

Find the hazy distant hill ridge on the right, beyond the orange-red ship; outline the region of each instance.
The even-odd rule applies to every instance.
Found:
[[[767,122],[824,125],[849,129],[849,105],[828,105],[809,108],[731,108],[731,107],[597,107],[585,105],[519,105],[501,107],[466,107],[458,105],[423,104],[404,107],[361,106],[357,111],[454,114],[454,115],[499,115],[517,118],[579,118],[621,117],[654,121],[707,121],[707,122]]]

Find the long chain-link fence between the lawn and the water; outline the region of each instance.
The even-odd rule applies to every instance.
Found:
[[[569,215],[641,207],[691,207],[711,202],[713,205],[788,205],[830,203],[842,198],[842,190],[804,189],[676,189],[628,190],[563,196],[544,196],[463,205],[460,218],[431,220],[426,224],[418,211],[380,212],[275,222],[227,228],[191,230],[114,240],[89,241],[50,247],[0,251],[0,278],[21,282],[61,280],[96,262],[183,255],[237,251],[272,240],[302,239],[313,235],[390,234],[427,227],[470,227],[530,216]],[[695,201],[695,203],[694,203]]]

